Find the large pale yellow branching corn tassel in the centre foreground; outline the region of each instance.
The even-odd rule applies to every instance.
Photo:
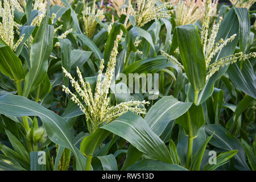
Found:
[[[80,72],[78,67],[77,75],[79,76],[79,82],[76,81],[65,68],[63,68],[63,73],[65,77],[68,77],[70,79],[73,88],[75,88],[81,100],[84,100],[84,104],[82,104],[82,101],[80,101],[76,94],[73,94],[71,90],[69,90],[64,85],[63,91],[71,96],[71,100],[75,102],[80,107],[81,111],[85,114],[86,121],[89,122],[91,125],[89,129],[90,133],[93,133],[100,125],[112,122],[115,118],[126,113],[127,111],[133,111],[136,114],[146,114],[146,109],[139,106],[150,104],[146,101],[129,101],[122,102],[118,105],[111,107],[109,105],[110,99],[108,97],[108,92],[113,78],[115,63],[118,54],[118,42],[121,39],[121,35],[118,35],[115,40],[114,47],[112,49],[112,52],[110,53],[108,67],[106,68],[106,74],[103,81],[102,72],[104,69],[104,60],[101,60],[94,96],[92,93],[92,89],[90,88],[89,82],[84,81],[82,73]],[[103,82],[103,84],[101,84],[101,81]]]

